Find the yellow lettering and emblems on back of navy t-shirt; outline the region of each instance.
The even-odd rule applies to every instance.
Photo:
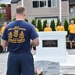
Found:
[[[12,30],[14,32],[12,32]],[[19,32],[20,30],[20,32]],[[8,42],[11,43],[23,43],[25,42],[25,34],[24,31],[26,29],[24,28],[19,28],[19,26],[15,26],[14,28],[9,28],[8,31]]]

